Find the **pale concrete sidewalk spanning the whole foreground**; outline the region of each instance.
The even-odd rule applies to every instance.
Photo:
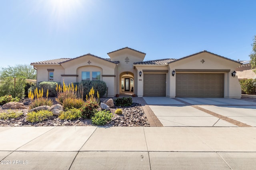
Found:
[[[256,127],[0,127],[0,169],[255,169]]]

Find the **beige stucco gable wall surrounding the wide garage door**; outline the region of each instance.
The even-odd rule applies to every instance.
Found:
[[[204,63],[202,63],[204,59]],[[240,98],[241,87],[238,82],[238,78],[232,77],[233,72],[240,64],[232,62],[230,60],[212,55],[209,53],[200,53],[198,55],[170,63],[170,72],[175,69],[213,69],[213,70],[230,70],[230,72],[218,72],[224,73],[224,97],[225,98]],[[177,73],[177,72],[176,72]],[[185,73],[185,72],[184,72]],[[192,73],[192,72],[189,72]],[[196,73],[196,72],[193,72]],[[199,72],[199,73],[216,73],[216,72]],[[170,76],[170,97],[176,96],[176,76]]]

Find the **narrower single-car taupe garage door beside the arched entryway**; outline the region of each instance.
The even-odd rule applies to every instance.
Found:
[[[144,74],[143,96],[165,96],[166,74]]]

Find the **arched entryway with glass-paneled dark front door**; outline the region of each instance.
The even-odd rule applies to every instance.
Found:
[[[134,74],[132,72],[122,72],[120,74],[119,92],[131,93],[134,92]]]

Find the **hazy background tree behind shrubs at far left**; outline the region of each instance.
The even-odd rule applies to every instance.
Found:
[[[36,70],[29,64],[18,64],[16,66],[2,67],[0,79],[7,77],[25,77],[26,79],[36,79]]]

